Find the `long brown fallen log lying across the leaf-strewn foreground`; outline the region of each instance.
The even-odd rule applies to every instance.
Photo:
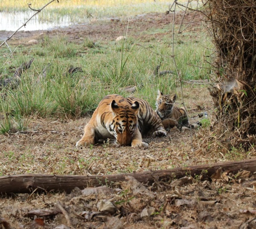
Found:
[[[65,191],[70,193],[75,187],[84,189],[86,187],[117,185],[131,176],[141,183],[152,183],[156,180],[172,180],[186,175],[204,175],[211,177],[218,169],[236,174],[239,170],[256,172],[256,158],[249,160],[213,163],[206,165],[189,166],[169,170],[134,172],[116,175],[79,176],[79,175],[8,175],[0,177],[0,193],[29,193],[42,191]]]

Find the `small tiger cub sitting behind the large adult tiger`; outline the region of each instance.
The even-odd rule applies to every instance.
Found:
[[[156,101],[156,112],[163,122],[165,129],[171,129],[174,126],[188,126],[189,119],[184,107],[174,106],[177,95],[163,94],[158,90]]]

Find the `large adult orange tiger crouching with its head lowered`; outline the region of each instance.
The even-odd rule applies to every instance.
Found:
[[[101,100],[93,112],[76,146],[90,146],[99,140],[110,139],[117,147],[131,145],[148,148],[142,135],[149,131],[153,131],[154,137],[166,136],[161,119],[148,102],[110,94]]]

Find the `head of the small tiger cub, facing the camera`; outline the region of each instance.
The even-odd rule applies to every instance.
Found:
[[[162,120],[172,113],[176,98],[176,94],[171,96],[169,94],[163,94],[160,90],[157,91],[156,112]]]

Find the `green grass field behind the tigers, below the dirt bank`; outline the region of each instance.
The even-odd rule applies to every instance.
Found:
[[[79,1],[75,3],[79,4]],[[157,32],[165,33],[166,28],[170,30],[170,25],[157,29]],[[144,34],[154,34],[154,30],[144,31]],[[15,50],[13,54],[2,46],[2,78],[12,76],[21,63],[31,58],[35,60],[23,73],[17,89],[0,90],[6,94],[0,102],[0,114],[4,115],[0,121],[0,132],[8,132],[13,125],[19,130],[26,129],[30,116],[84,116],[93,112],[107,94],[130,96],[129,92],[122,90],[127,86],[136,86],[133,96],[148,100],[154,108],[158,89],[168,93],[180,86],[177,69],[185,81],[206,79],[210,74],[207,69],[210,66],[204,59],[211,56],[212,44],[203,33],[191,32],[185,37],[176,34],[174,44],[170,34],[161,40],[146,42],[134,38],[132,32],[124,35],[127,39],[119,42],[82,37],[81,43],[70,42],[65,36],[45,36],[35,46],[9,45],[11,50]],[[171,57],[172,46],[177,69]],[[211,62],[210,57],[207,61]],[[172,70],[174,74],[155,76],[154,70],[159,64],[161,70]],[[47,75],[38,83],[37,79],[46,66]],[[81,67],[83,72],[70,76],[67,74],[70,66]]]

